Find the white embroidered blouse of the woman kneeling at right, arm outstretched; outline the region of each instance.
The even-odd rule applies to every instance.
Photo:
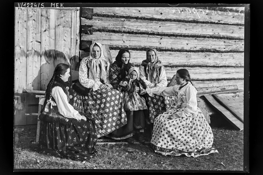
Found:
[[[182,87],[187,83],[186,86]],[[180,117],[187,117],[197,112],[197,90],[190,82],[186,82],[182,85],[175,85],[172,87],[157,87],[152,89],[147,89],[149,95],[157,94],[159,96],[174,96],[176,114]]]

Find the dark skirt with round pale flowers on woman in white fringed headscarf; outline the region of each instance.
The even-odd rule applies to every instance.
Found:
[[[73,106],[88,113],[95,122],[97,137],[105,136],[127,124],[123,109],[123,93],[116,89],[101,89],[88,94],[74,91]]]

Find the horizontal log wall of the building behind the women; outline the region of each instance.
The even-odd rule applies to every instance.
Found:
[[[93,42],[108,45],[113,62],[128,47],[136,66],[156,48],[168,81],[186,68],[197,88],[244,89],[244,7],[83,7],[80,59]]]

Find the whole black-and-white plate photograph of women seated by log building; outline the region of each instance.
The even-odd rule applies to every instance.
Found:
[[[250,4],[14,3],[14,172],[249,173]]]

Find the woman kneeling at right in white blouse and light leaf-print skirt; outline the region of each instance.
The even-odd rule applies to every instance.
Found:
[[[153,124],[151,147],[161,155],[198,157],[218,153],[212,147],[213,133],[203,113],[197,107],[197,90],[186,69],[176,72],[173,87],[158,87],[144,93],[174,96],[175,105],[157,116]]]

